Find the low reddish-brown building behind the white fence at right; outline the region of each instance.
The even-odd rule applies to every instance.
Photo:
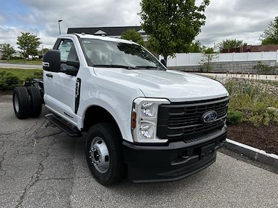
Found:
[[[246,53],[246,52],[271,52],[278,51],[278,45],[242,46],[234,49],[223,49],[222,53]]]

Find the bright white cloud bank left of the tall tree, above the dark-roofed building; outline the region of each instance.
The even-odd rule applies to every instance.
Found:
[[[19,26],[2,25],[0,16],[0,42],[10,42],[16,46],[17,35],[28,31],[41,38],[42,46],[50,48],[58,35],[58,19],[63,19],[60,24],[62,33],[67,33],[69,27],[140,24],[140,17],[137,15],[140,1],[67,0],[65,3],[56,0],[21,0],[20,3],[28,8],[28,14],[17,12],[13,17],[7,15]],[[4,35],[4,31],[8,31],[8,37]]]

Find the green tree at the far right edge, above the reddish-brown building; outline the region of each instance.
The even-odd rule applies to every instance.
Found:
[[[270,21],[260,40],[263,45],[278,44],[278,16],[275,17],[274,21]]]

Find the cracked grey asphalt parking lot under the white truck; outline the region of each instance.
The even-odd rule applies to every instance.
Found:
[[[45,113],[45,110],[44,110]],[[277,207],[278,175],[218,153],[177,182],[98,184],[71,138],[44,119],[16,119],[0,96],[0,207]]]

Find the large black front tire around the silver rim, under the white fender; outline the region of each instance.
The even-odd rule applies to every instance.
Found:
[[[100,184],[112,185],[120,182],[124,177],[126,169],[121,140],[120,133],[112,123],[93,125],[88,132],[85,156],[92,175]],[[93,150],[94,147],[96,147],[95,150]],[[97,157],[99,153],[102,154]],[[96,164],[97,159],[99,159],[99,164]],[[106,166],[107,163],[109,163],[108,166]]]

